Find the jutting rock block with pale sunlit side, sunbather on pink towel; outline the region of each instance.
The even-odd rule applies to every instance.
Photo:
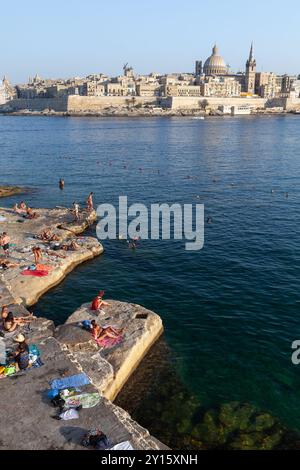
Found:
[[[56,330],[55,337],[72,355],[108,399],[113,400],[145,354],[162,334],[161,318],[136,304],[107,301],[98,316],[90,304],[82,305]],[[123,330],[123,341],[117,347],[97,350],[91,335],[78,326],[83,320],[96,319],[102,327]]]

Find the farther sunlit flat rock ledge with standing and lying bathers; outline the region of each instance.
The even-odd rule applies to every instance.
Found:
[[[94,237],[79,237],[96,219],[96,212],[82,212],[81,221],[74,222],[67,208],[36,209],[38,218],[28,220],[11,209],[0,208],[0,231],[7,232],[11,238],[9,262],[16,264],[8,270],[1,270],[1,281],[18,303],[33,305],[49,289],[59,284],[66,275],[79,264],[101,253],[103,246]],[[75,240],[78,251],[53,251],[48,242],[36,239],[45,229],[57,235],[59,241]],[[45,277],[23,276],[21,272],[34,263],[32,247],[39,246],[43,252],[42,264],[51,268]],[[0,261],[4,258],[0,251]]]

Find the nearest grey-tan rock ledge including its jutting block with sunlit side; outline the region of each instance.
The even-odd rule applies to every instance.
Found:
[[[136,450],[167,449],[107,398],[117,393],[162,333],[161,319],[138,305],[108,302],[106,314],[100,315],[98,323],[109,322],[118,328],[125,325],[125,331],[123,343],[105,352],[99,350],[90,334],[78,325],[82,319],[95,318],[88,305],[83,305],[56,329],[53,322],[45,318],[35,320],[30,329],[22,327],[28,342],[39,347],[44,365],[0,380],[0,395],[6,403],[5,411],[0,414],[0,449],[85,450],[80,441],[83,434],[94,427],[100,427],[113,445],[129,440]],[[27,312],[19,305],[12,305],[11,309],[16,317]],[[8,349],[13,347],[13,336],[0,341],[5,341]],[[94,408],[82,410],[77,420],[52,419],[55,410],[46,398],[49,383],[82,371],[91,380],[85,391],[98,391],[100,402]]]

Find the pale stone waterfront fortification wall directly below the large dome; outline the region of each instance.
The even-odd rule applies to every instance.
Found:
[[[182,97],[174,96],[169,98],[168,103],[172,109],[198,109],[201,103],[207,103],[210,108],[218,108],[218,106],[251,106],[252,108],[264,108],[266,99],[264,98],[215,98],[215,97]]]

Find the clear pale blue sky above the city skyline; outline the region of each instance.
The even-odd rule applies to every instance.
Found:
[[[248,7],[247,7],[248,4]],[[251,40],[258,70],[300,73],[300,1],[0,0],[0,74],[193,71],[217,42],[232,70]]]

